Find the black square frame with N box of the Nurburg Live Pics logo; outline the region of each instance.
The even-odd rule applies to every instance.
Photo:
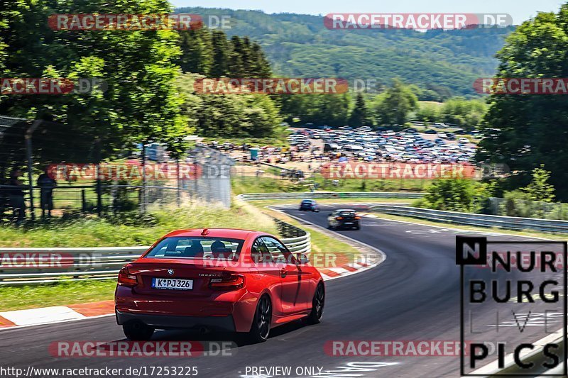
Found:
[[[564,343],[564,372],[562,374],[539,374],[539,377],[564,377],[568,375],[568,242],[555,241],[555,240],[535,240],[535,241],[518,241],[518,240],[498,240],[498,241],[487,241],[485,237],[472,237],[472,236],[456,236],[456,264],[459,265],[460,269],[460,306],[459,306],[459,343],[460,345],[465,345],[465,334],[464,334],[464,266],[466,265],[485,265],[487,262],[487,245],[488,244],[525,244],[525,245],[562,245],[564,260],[562,261],[562,272],[564,273],[564,332],[563,332],[563,343]],[[467,245],[470,250],[475,250],[476,245],[479,245],[479,255],[468,254],[464,256],[464,246]],[[487,377],[488,374],[466,374],[465,372],[465,355],[464,348],[459,348],[459,369],[460,375],[462,377]],[[532,374],[534,375],[534,374]],[[492,377],[523,377],[518,373],[514,374],[491,374]],[[530,375],[525,375],[529,377]]]

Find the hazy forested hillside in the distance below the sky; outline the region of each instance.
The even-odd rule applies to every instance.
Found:
[[[286,77],[391,79],[420,87],[420,100],[476,96],[472,83],[492,77],[512,28],[468,30],[328,30],[322,16],[261,11],[180,8],[180,13],[226,15],[228,35],[248,35]]]

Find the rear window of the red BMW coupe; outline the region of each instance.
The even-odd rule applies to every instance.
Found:
[[[239,260],[244,240],[174,236],[160,241],[145,257],[202,260]]]

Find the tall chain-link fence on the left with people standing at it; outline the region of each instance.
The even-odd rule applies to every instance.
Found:
[[[0,223],[191,201],[229,207],[232,165],[202,145],[177,160],[155,143],[116,156],[61,123],[0,116]]]

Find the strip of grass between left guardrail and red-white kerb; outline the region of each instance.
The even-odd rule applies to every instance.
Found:
[[[0,311],[106,301],[113,299],[114,287],[114,279],[2,287]]]

